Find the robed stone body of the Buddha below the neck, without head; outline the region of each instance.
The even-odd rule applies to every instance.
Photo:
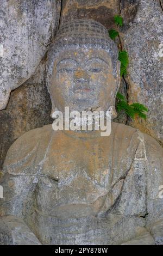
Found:
[[[1,215],[24,218],[43,244],[161,244],[159,144],[115,123],[111,136],[90,136],[47,125],[18,138],[4,164]]]

